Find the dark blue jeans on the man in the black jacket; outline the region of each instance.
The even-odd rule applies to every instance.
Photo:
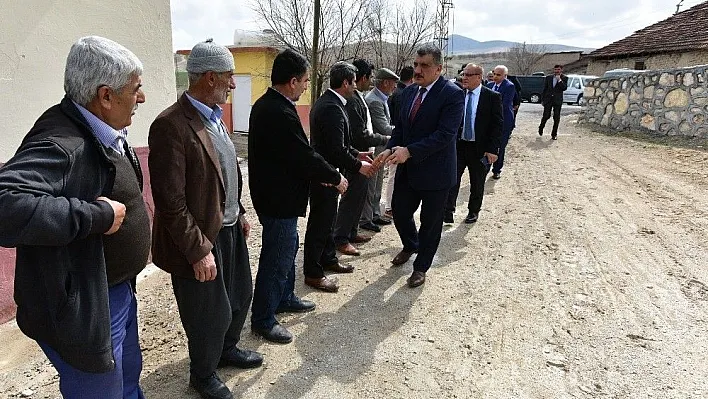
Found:
[[[295,255],[299,245],[297,218],[258,215],[263,225],[261,256],[251,306],[251,327],[270,329],[275,310],[295,298]]]

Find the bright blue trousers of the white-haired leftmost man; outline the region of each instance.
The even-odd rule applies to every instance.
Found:
[[[39,342],[59,373],[59,390],[64,398],[144,399],[138,385],[143,357],[138,342],[138,304],[133,289],[124,282],[108,289],[111,312],[111,340],[116,368],[107,373],[87,373],[62,360],[49,345]]]

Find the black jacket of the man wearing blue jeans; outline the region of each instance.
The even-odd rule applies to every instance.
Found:
[[[256,212],[305,216],[310,181],[339,180],[339,172],[310,147],[295,105],[269,88],[253,104],[248,128],[248,186]]]

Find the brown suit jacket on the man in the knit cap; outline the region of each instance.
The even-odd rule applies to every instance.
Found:
[[[211,252],[222,228],[226,193],[214,144],[186,94],[152,122],[148,145],[155,202],[152,261],[168,273],[194,278],[192,264]]]

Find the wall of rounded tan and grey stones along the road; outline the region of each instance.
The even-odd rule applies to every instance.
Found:
[[[580,122],[708,138],[708,65],[591,81]]]

